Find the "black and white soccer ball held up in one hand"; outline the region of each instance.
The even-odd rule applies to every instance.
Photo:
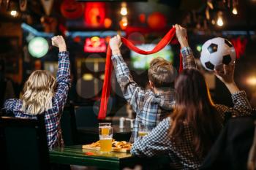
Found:
[[[203,44],[200,61],[206,70],[213,71],[222,64],[227,65],[235,60],[235,48],[227,39],[217,37]]]

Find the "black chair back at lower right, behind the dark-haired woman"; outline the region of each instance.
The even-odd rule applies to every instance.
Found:
[[[252,116],[228,120],[200,170],[248,170],[246,164],[253,142],[254,121]]]

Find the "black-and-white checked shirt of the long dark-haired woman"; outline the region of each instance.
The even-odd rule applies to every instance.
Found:
[[[220,114],[223,126],[225,112],[233,112],[233,116],[250,115],[252,108],[246,98],[244,91],[232,94],[234,107],[226,107],[217,104],[217,114]],[[181,143],[175,143],[170,140],[169,129],[172,125],[170,117],[162,120],[150,134],[144,137],[138,137],[132,145],[132,155],[152,157],[154,155],[168,154],[170,157],[171,169],[199,169],[203,158],[198,158],[194,152],[192,129],[184,124],[184,140]]]

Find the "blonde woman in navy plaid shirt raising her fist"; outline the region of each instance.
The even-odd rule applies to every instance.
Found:
[[[60,117],[70,85],[69,53],[62,36],[54,36],[52,45],[59,47],[57,79],[45,70],[34,71],[25,82],[20,99],[5,101],[4,108],[15,117],[35,118],[45,115],[48,147],[63,146]]]

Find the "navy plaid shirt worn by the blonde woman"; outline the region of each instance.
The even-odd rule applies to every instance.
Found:
[[[69,71],[69,53],[59,53],[59,69],[57,72],[57,89],[52,98],[53,108],[48,109],[45,114],[45,128],[48,140],[48,147],[64,146],[64,142],[61,136],[60,118],[61,112],[64,108],[64,104],[67,100],[67,93],[70,86],[70,71]],[[35,115],[29,115],[29,113],[21,110],[22,101],[20,99],[8,99],[4,103],[4,109],[7,109],[14,113],[15,117],[22,118],[36,118]]]

